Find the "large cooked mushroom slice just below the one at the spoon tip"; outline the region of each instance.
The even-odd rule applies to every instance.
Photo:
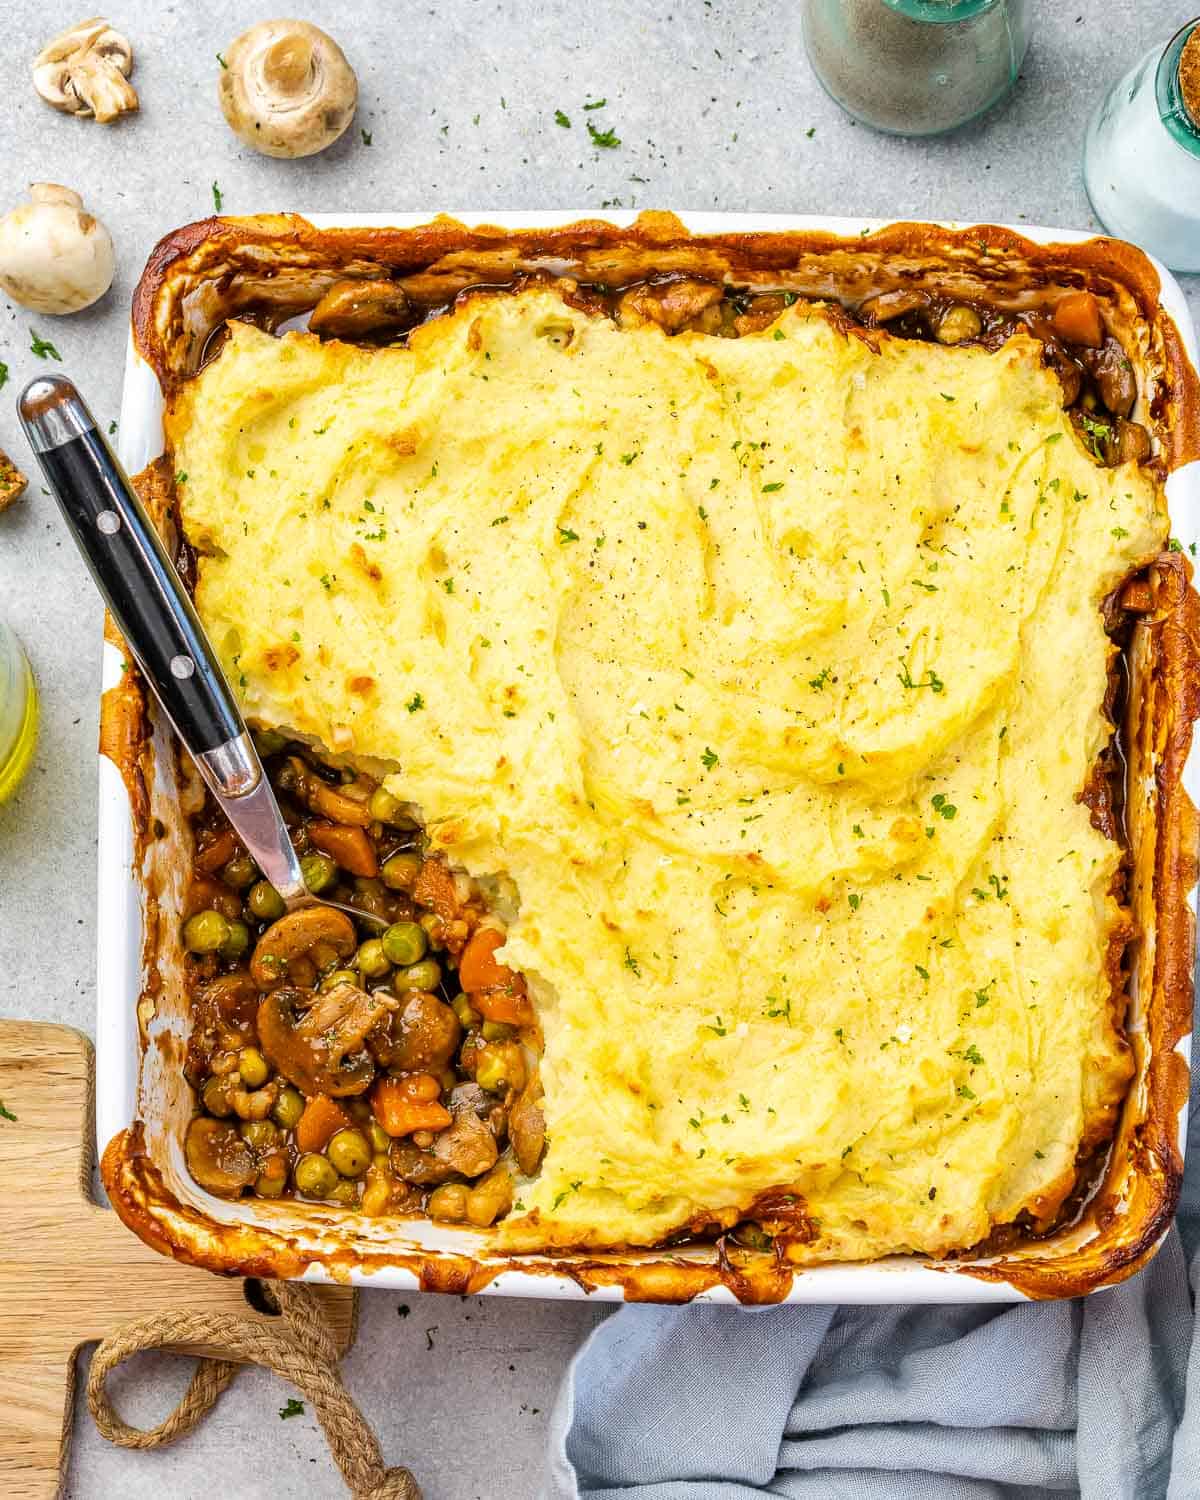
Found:
[[[326,994],[280,987],[258,1006],[258,1042],[267,1062],[303,1094],[363,1094],[375,1060],[363,1038],[396,1008],[386,990],[338,984]]]

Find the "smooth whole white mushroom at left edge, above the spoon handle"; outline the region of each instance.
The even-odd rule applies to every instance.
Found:
[[[0,219],[0,288],[34,312],[80,312],[112,285],[112,240],[82,198],[32,183],[28,202]]]

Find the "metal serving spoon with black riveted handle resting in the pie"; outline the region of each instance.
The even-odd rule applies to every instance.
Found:
[[[262,774],[254,740],[212,642],[124,470],[63,375],[32,381],[16,404],[26,436],[92,578],[142,676],[222,812],[290,912],[336,906],[374,927],[374,912],[324,902]]]

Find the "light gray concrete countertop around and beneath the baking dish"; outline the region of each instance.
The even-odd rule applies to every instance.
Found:
[[[270,9],[124,0],[112,15],[135,46],[142,110],[110,128],[54,114],[30,86],[38,46],[78,9],[6,6],[0,210],[30,180],[74,186],[112,231],[118,272],[111,294],[74,318],[0,308],[0,446],[22,465],[12,398],[45,369],[30,330],[54,340],[96,416],[116,417],[132,286],[159,236],[212,213],[214,184],[231,213],[622,206],[1095,226],[1078,170],[1088,116],[1196,0],[1034,0],[1012,98],[924,144],[873,135],[837,110],[808,69],[795,4],[318,0],[302,14],[340,40],[362,98],[342,141],[306,162],[244,150],[216,105],[216,52]],[[579,112],[598,98],[603,111]],[[620,147],[594,148],[585,118],[612,128]],[[1186,290],[1200,314],[1200,278]],[[33,770],[0,808],[0,1014],[90,1032],[100,609],[36,483],[0,518],[0,612],[26,642],[44,711]],[[428,1500],[532,1500],[546,1410],[598,1316],[572,1302],[370,1293],[350,1384],[384,1455],[411,1464]],[[144,1358],[118,1382],[128,1416],[158,1420],[183,1378],[182,1362]],[[81,1413],[69,1494],[207,1500],[214,1482],[238,1500],[344,1494],[312,1414],[280,1424],[290,1394],[248,1372],[196,1434],[154,1455],[108,1448]]]

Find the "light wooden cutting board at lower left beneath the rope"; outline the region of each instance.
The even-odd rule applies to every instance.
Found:
[[[3,1500],[58,1494],[81,1344],[132,1318],[182,1308],[270,1323],[248,1302],[248,1282],[166,1260],[92,1198],[92,1044],[80,1032],[0,1022]],[[345,1352],[354,1336],[354,1293],[320,1292]]]

